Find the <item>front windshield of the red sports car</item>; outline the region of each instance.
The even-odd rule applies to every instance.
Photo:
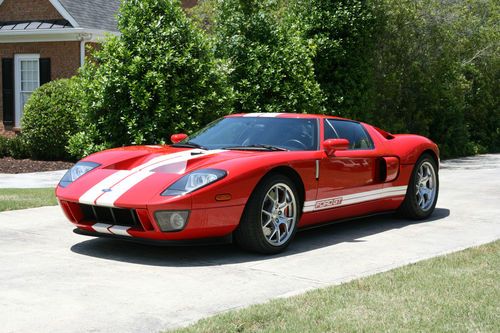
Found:
[[[207,149],[265,145],[287,150],[317,150],[318,122],[313,118],[222,118],[191,135],[184,142]]]

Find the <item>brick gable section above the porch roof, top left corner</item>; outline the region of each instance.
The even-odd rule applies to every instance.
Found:
[[[63,17],[49,0],[4,0],[0,21],[55,20]]]

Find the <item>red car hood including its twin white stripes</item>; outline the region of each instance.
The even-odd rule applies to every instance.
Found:
[[[281,153],[281,152],[276,152]],[[286,153],[286,152],[283,152]],[[228,162],[269,156],[268,152],[202,150],[170,146],[134,146],[110,149],[84,159],[100,166],[67,188],[58,197],[80,203],[130,207],[158,197],[183,175],[202,168],[220,168]],[[274,154],[273,154],[274,155]]]

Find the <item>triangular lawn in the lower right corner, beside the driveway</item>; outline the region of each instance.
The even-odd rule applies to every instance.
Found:
[[[175,332],[500,332],[500,241]]]

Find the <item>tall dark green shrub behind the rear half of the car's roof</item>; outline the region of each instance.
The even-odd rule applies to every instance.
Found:
[[[377,6],[366,0],[295,0],[290,9],[304,38],[316,46],[314,72],[327,113],[363,118],[373,103]]]

